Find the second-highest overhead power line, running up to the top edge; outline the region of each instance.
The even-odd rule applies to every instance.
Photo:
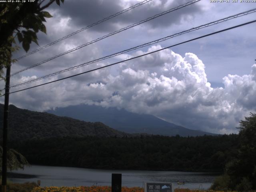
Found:
[[[140,24],[142,24],[142,23],[144,23],[144,22],[147,22],[147,21],[149,21],[149,20],[155,19],[155,18],[157,18],[157,17],[160,17],[160,16],[165,15],[165,14],[167,14],[167,13],[173,12],[173,11],[178,10],[178,9],[180,9],[180,8],[184,8],[184,7],[186,7],[186,6],[190,5],[190,4],[194,4],[194,3],[198,2],[198,1],[201,1],[201,0],[192,0],[192,1],[187,2],[187,3],[185,3],[185,4],[179,5],[179,6],[175,7],[175,8],[171,8],[171,9],[169,9],[169,10],[167,10],[167,11],[164,11],[164,12],[162,12],[162,13],[160,13],[160,14],[156,14],[156,15],[154,15],[154,16],[152,16],[152,17],[146,18],[145,20],[142,20],[142,21],[140,21],[140,22],[137,22],[137,23],[134,23],[134,24],[132,24],[132,25],[126,26],[126,27],[124,27],[124,28],[122,28],[122,29],[120,29],[120,30],[116,30],[115,32],[112,32],[112,33],[110,33],[110,34],[107,34],[107,35],[105,35],[105,36],[102,36],[102,37],[100,37],[100,38],[97,38],[97,39],[95,39],[95,40],[92,40],[91,42],[88,42],[88,43],[86,43],[86,44],[80,45],[80,46],[78,46],[78,47],[76,47],[76,48],[73,48],[73,49],[71,49],[71,50],[68,50],[68,51],[66,51],[66,52],[64,52],[64,53],[58,54],[58,55],[56,55],[56,56],[54,56],[54,57],[52,57],[52,58],[48,58],[48,59],[46,59],[46,60],[44,60],[44,61],[42,61],[42,62],[39,62],[39,63],[34,64],[34,65],[32,65],[32,66],[29,66],[29,67],[27,67],[27,68],[24,68],[24,69],[22,69],[22,70],[20,70],[20,71],[18,71],[18,72],[15,72],[15,73],[11,74],[10,76],[13,76],[13,75],[18,74],[18,73],[20,73],[20,72],[22,72],[22,71],[25,71],[25,70],[31,69],[31,68],[33,68],[33,67],[36,67],[36,66],[38,66],[38,65],[41,65],[41,64],[43,64],[43,63],[46,63],[46,62],[48,62],[48,61],[50,61],[50,60],[53,60],[53,59],[55,59],[55,58],[58,58],[58,57],[60,57],[60,56],[62,56],[62,55],[65,55],[65,54],[68,54],[68,53],[70,53],[70,52],[76,51],[76,50],[78,50],[78,49],[80,49],[80,48],[83,48],[83,47],[85,47],[85,46],[87,46],[87,45],[93,44],[93,43],[95,43],[95,42],[97,42],[97,41],[100,41],[100,40],[102,40],[102,39],[104,39],[104,38],[107,38],[107,37],[109,37],[109,36],[112,36],[112,35],[114,35],[114,34],[120,33],[120,32],[122,32],[122,31],[127,30],[127,29],[129,29],[129,28],[132,28],[132,27],[134,27],[134,26],[140,25]]]

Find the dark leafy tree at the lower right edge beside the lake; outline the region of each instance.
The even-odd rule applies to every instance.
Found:
[[[241,120],[239,129],[237,157],[226,164],[224,175],[212,186],[214,190],[256,190],[256,114]]]

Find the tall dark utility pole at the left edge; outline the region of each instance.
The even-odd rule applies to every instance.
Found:
[[[2,192],[6,192],[7,180],[7,130],[8,130],[8,115],[9,115],[9,92],[10,92],[10,74],[11,64],[6,67],[6,82],[4,94],[4,127],[3,127],[3,156],[2,156]]]

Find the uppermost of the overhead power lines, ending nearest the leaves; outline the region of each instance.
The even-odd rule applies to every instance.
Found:
[[[125,13],[125,12],[127,12],[127,11],[129,11],[129,10],[132,10],[132,9],[134,9],[134,8],[136,8],[136,7],[138,7],[138,6],[141,6],[141,5],[145,4],[145,3],[148,3],[148,2],[150,2],[150,1],[152,1],[152,0],[144,0],[144,1],[140,2],[140,3],[137,3],[137,4],[131,6],[131,7],[127,8],[127,9],[124,9],[124,10],[122,10],[122,11],[116,13],[116,14],[113,14],[113,15],[111,15],[111,16],[108,16],[108,17],[106,17],[106,18],[104,18],[104,19],[102,19],[102,20],[99,20],[99,21],[97,21],[97,22],[95,22],[95,23],[93,23],[93,24],[90,24],[90,25],[88,25],[88,26],[86,26],[86,27],[84,27],[84,28],[82,28],[82,29],[80,29],[80,30],[77,30],[76,32],[73,32],[73,33],[71,33],[71,34],[68,34],[67,36],[64,36],[64,37],[62,37],[62,38],[60,38],[60,39],[58,39],[58,40],[56,40],[56,41],[54,41],[54,42],[51,42],[51,43],[49,43],[49,44],[47,44],[47,45],[45,45],[45,46],[42,46],[42,47],[40,47],[40,48],[38,48],[38,49],[32,51],[32,52],[29,52],[29,53],[27,53],[27,54],[25,54],[25,55],[23,55],[23,56],[21,56],[21,57],[15,59],[15,60],[18,61],[18,60],[20,60],[20,59],[22,59],[22,58],[24,58],[24,57],[26,57],[26,56],[29,56],[29,55],[31,55],[31,54],[34,54],[34,53],[36,53],[36,52],[38,52],[38,51],[40,51],[40,50],[42,50],[42,49],[44,49],[44,48],[46,48],[46,47],[50,47],[50,46],[52,46],[52,45],[54,45],[54,44],[56,44],[56,43],[58,43],[58,42],[60,42],[60,41],[62,41],[62,40],[64,40],[64,39],[66,39],[66,38],[69,38],[69,37],[71,37],[71,36],[73,36],[73,35],[75,35],[75,34],[78,34],[78,33],[82,32],[82,31],[88,29],[88,28],[91,28],[91,27],[93,27],[93,26],[95,26],[95,25],[98,25],[98,24],[100,24],[100,23],[102,23],[102,22],[104,22],[104,21],[106,21],[106,20],[109,20],[109,19],[111,19],[111,18],[114,18],[114,17],[116,17],[116,16],[118,16],[118,15],[120,15],[120,14],[123,14],[123,13]]]

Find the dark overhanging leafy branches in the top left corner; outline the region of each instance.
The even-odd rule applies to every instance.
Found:
[[[30,48],[31,42],[37,42],[36,33],[40,30],[46,33],[43,22],[45,18],[52,17],[48,12],[43,11],[56,2],[60,6],[60,1],[64,0],[34,0],[34,2],[9,2],[0,4],[0,76],[3,69],[14,60],[11,59],[12,52],[17,47],[12,47],[15,38],[22,43],[26,52]]]

